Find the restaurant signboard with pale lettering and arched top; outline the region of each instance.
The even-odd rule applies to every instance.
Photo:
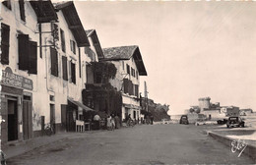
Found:
[[[13,74],[12,69],[9,67],[2,71],[1,83],[13,87],[32,90],[32,80],[20,75]]]

